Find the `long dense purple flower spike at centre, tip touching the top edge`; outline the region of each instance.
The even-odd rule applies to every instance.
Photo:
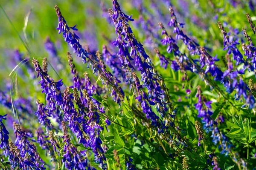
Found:
[[[132,21],[132,16],[124,14],[116,0],[112,0],[113,9],[110,10],[111,17],[116,26],[116,34],[118,35],[116,41],[113,42],[117,47],[125,46],[122,56],[125,60],[133,60],[131,56],[135,56],[135,66],[137,70],[141,72],[141,81],[143,81],[145,87],[148,89],[148,98],[154,101],[157,111],[164,117],[166,114],[167,106],[163,101],[165,99],[164,91],[158,83],[158,79],[153,73],[153,65],[149,56],[146,54],[143,45],[136,40],[128,24],[128,21]],[[131,47],[130,53],[128,53],[128,46]],[[126,56],[128,58],[126,58]],[[128,63],[126,63],[128,65]]]

